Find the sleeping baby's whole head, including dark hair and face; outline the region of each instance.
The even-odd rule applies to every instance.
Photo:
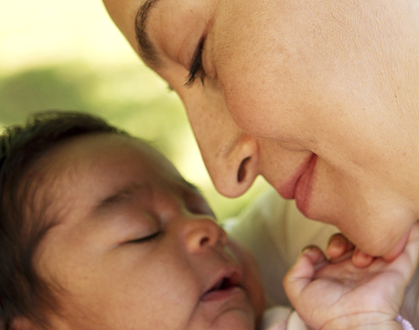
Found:
[[[254,329],[254,260],[161,153],[77,113],[0,139],[0,329]]]

